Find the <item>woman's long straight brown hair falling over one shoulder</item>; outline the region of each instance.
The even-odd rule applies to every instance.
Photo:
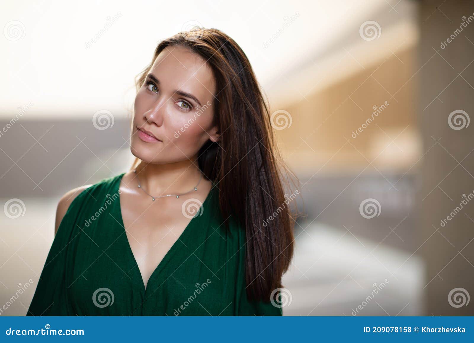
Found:
[[[273,290],[282,287],[293,257],[295,220],[285,206],[283,188],[292,173],[275,144],[268,106],[246,54],[215,28],[195,27],[161,41],[151,63],[136,77],[137,91],[167,46],[187,47],[214,73],[218,91],[213,124],[221,135],[217,143],[209,140],[202,146],[199,168],[220,190],[223,217],[235,216],[245,229],[247,297],[268,302]],[[131,169],[139,162],[137,158]]]

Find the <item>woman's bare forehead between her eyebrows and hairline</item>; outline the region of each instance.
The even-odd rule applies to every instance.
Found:
[[[213,72],[198,54],[182,46],[167,46],[158,54],[150,73],[162,89],[182,90],[205,103],[215,94]]]

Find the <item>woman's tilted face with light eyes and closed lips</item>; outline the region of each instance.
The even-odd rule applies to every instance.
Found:
[[[155,59],[135,98],[131,152],[150,163],[196,157],[212,126],[215,81],[198,54],[181,46],[166,47]]]

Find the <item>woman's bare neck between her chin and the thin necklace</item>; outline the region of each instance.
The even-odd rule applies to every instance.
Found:
[[[151,195],[181,194],[193,189],[202,174],[197,159],[191,161],[186,159],[167,164],[141,162],[135,177]]]

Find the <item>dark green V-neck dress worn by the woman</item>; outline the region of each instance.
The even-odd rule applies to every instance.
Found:
[[[125,233],[119,184],[83,190],[55,235],[27,316],[282,316],[246,297],[244,230],[229,230],[213,187],[147,287]],[[159,226],[159,223],[157,223]]]

